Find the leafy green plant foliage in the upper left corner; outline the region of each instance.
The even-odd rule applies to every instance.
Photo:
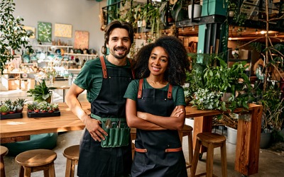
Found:
[[[33,48],[28,45],[29,37],[33,32],[23,29],[23,18],[13,16],[15,11],[13,0],[3,0],[0,3],[0,70],[1,74],[5,69],[7,61],[13,59],[13,52],[20,51],[25,47],[29,53],[33,53]]]

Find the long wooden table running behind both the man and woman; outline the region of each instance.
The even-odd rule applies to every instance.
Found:
[[[89,114],[90,103],[81,102],[82,108]],[[48,132],[66,132],[82,130],[84,124],[77,118],[65,103],[59,103],[61,115],[48,118],[28,118],[23,110],[23,118],[0,120],[1,143],[28,140],[30,135]],[[193,138],[199,132],[212,131],[212,118],[222,112],[219,110],[197,110],[187,106],[186,117],[195,118]],[[241,112],[237,109],[236,113]],[[251,104],[249,106],[251,120],[239,120],[236,142],[235,170],[249,176],[258,173],[259,144],[261,138],[262,106]]]

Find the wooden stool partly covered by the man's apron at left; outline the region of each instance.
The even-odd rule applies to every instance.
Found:
[[[79,152],[80,152],[80,145],[74,145],[71,147],[67,147],[64,150],[63,156],[67,158],[65,177],[74,176],[75,165],[78,164]]]

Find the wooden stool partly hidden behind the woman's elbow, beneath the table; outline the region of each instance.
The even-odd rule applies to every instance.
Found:
[[[192,159],[193,159],[192,130],[193,130],[193,128],[190,125],[183,125],[182,130],[179,131],[181,143],[182,143],[182,137],[187,136],[187,138],[188,138],[188,157],[189,158],[188,158],[188,162],[187,162],[187,169],[191,168]]]

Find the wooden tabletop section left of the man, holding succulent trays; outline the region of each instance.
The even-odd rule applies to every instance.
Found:
[[[89,102],[82,102],[82,108],[90,114]],[[26,107],[23,118],[0,120],[1,143],[18,142],[30,139],[31,135],[48,132],[66,132],[84,129],[83,122],[75,116],[66,103],[58,103],[60,116],[28,118]]]

